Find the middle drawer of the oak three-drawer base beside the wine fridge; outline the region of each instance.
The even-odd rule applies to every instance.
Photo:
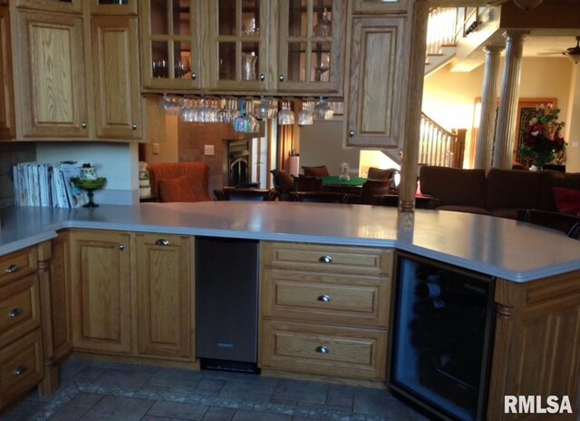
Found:
[[[390,278],[264,269],[261,283],[264,317],[387,327]]]

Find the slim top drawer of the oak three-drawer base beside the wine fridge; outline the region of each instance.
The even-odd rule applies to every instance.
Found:
[[[391,275],[392,250],[263,242],[266,267],[361,275]]]

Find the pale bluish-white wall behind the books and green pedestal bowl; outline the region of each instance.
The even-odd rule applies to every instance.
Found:
[[[37,142],[37,162],[89,162],[107,184],[94,192],[94,201],[103,204],[139,203],[137,143]]]

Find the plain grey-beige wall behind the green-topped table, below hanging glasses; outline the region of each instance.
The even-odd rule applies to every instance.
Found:
[[[343,148],[343,122],[314,122],[300,127],[300,166],[326,165],[331,175],[340,173],[339,164],[348,162],[350,174],[359,173],[359,149]],[[302,171],[300,171],[302,172]]]

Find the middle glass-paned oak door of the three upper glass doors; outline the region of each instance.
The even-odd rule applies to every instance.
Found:
[[[216,0],[211,3],[210,87],[233,92],[266,90],[269,2]]]

